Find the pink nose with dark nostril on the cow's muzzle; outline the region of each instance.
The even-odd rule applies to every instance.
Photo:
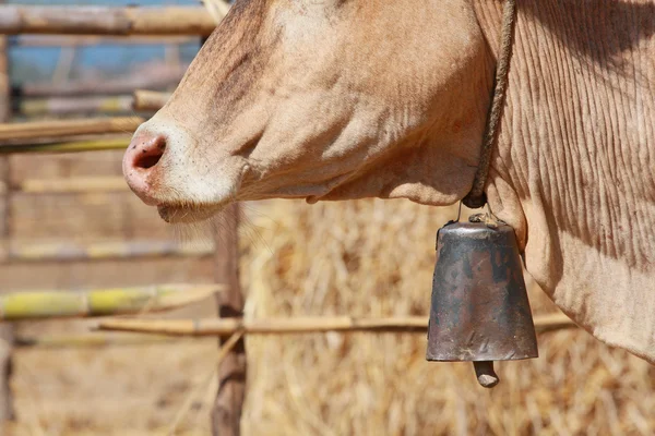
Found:
[[[139,197],[148,205],[156,205],[152,184],[157,164],[166,150],[166,137],[141,133],[132,138],[123,156],[123,175]]]

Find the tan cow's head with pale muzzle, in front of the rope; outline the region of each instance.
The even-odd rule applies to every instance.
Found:
[[[273,197],[451,204],[473,182],[490,59],[464,0],[238,0],[123,171],[171,222]]]

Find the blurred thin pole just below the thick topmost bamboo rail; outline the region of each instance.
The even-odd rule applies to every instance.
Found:
[[[14,47],[86,47],[86,46],[146,46],[162,44],[187,45],[198,43],[193,36],[92,36],[92,35],[20,35],[10,39]]]

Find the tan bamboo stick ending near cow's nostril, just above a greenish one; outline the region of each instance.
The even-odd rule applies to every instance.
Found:
[[[145,120],[140,117],[117,117],[62,121],[33,121],[0,124],[0,145],[39,137],[62,137],[106,133],[132,133]]]

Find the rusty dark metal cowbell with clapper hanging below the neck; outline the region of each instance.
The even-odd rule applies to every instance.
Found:
[[[538,356],[514,230],[488,215],[449,222],[437,233],[428,361],[474,362],[484,387],[493,361]]]

